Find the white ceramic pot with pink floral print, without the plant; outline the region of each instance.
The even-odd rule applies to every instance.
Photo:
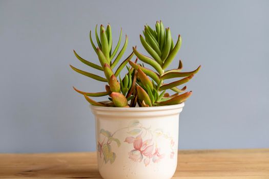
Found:
[[[177,166],[178,122],[183,106],[91,106],[101,176],[171,178]]]

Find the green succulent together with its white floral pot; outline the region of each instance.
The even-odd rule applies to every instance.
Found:
[[[179,35],[174,44],[170,28],[164,29],[162,22],[157,21],[154,29],[146,25],[144,36],[140,35],[142,46],[151,57],[141,54],[133,47],[133,52],[116,68],[128,44],[126,36],[123,47],[117,53],[121,34],[122,31],[113,49],[110,25],[106,29],[101,25],[99,36],[96,26],[97,46],[90,32],[90,41],[99,65],[81,58],[74,51],[81,62],[103,71],[105,77],[70,65],[82,75],[107,83],[106,90],[98,93],[82,92],[74,87],[91,104],[95,115],[99,172],[105,179],[171,178],[177,166],[179,114],[183,102],[192,94],[185,92],[186,86],[181,89],[177,86],[192,79],[200,66],[192,72],[181,72],[182,62],[179,60],[178,68],[167,70],[180,49],[181,37]],[[133,62],[131,59],[134,55],[137,58]],[[144,63],[156,72],[146,68]],[[123,68],[127,68],[128,73],[121,79],[120,72]],[[181,79],[164,83],[164,80],[171,78]],[[166,93],[168,89],[175,94]],[[97,102],[91,98],[100,96],[109,96],[109,100]]]

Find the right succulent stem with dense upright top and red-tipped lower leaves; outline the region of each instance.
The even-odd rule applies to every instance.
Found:
[[[181,47],[181,36],[178,35],[176,44],[174,45],[171,36],[170,28],[163,27],[162,21],[157,21],[155,30],[150,26],[144,26],[143,35],[140,35],[140,41],[144,49],[151,55],[148,57],[141,54],[133,48],[135,55],[143,63],[147,63],[152,66],[153,70],[147,69],[143,64],[136,64],[129,61],[130,65],[137,70],[137,86],[136,91],[138,94],[137,103],[139,106],[159,106],[159,105],[173,105],[184,102],[189,98],[192,92],[186,92],[181,95],[187,89],[187,86],[179,89],[177,86],[187,83],[193,78],[201,65],[192,72],[181,72],[182,61],[179,60],[178,68],[172,70],[166,70],[171,62],[175,59]],[[150,78],[152,80],[150,80]],[[183,78],[182,78],[183,77]],[[171,78],[182,78],[170,83],[164,83],[163,81]],[[174,95],[165,93],[167,89],[171,89],[176,92]]]

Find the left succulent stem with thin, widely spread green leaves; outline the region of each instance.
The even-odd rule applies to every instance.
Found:
[[[79,70],[75,68],[74,66],[70,65],[70,67],[76,71],[77,73],[80,73],[82,75],[85,75],[87,77],[90,77],[92,79],[102,81],[102,82],[107,82],[108,85],[105,86],[106,91],[104,92],[97,92],[97,93],[88,93],[88,92],[82,92],[75,89],[76,92],[84,95],[86,100],[91,103],[92,105],[97,105],[97,106],[116,106],[116,107],[129,107],[128,105],[128,100],[131,100],[132,97],[128,95],[126,97],[125,95],[129,92],[129,90],[132,87],[132,73],[134,72],[133,69],[128,69],[128,74],[121,80],[120,82],[117,80],[117,77],[119,76],[119,73],[123,68],[125,68],[126,64],[128,61],[133,57],[134,53],[132,52],[127,59],[125,59],[116,70],[115,67],[120,61],[122,55],[125,53],[127,45],[128,45],[128,37],[126,35],[125,38],[125,43],[123,44],[122,49],[120,52],[117,54],[119,47],[120,47],[120,42],[121,42],[121,35],[122,35],[122,30],[120,31],[119,35],[119,40],[117,42],[117,45],[114,50],[112,50],[112,31],[111,31],[111,26],[108,25],[107,29],[105,29],[104,26],[100,26],[100,38],[98,36],[97,32],[97,25],[95,27],[95,38],[98,44],[98,47],[95,46],[93,39],[92,39],[92,34],[90,31],[90,41],[92,44],[92,47],[94,51],[97,54],[97,57],[99,59],[99,63],[95,64],[92,63],[88,60],[85,60],[84,58],[81,58],[75,51],[74,54],[77,57],[78,60],[80,60],[82,63],[85,63],[86,65],[90,66],[91,68],[94,68],[96,70],[103,71],[105,74],[105,77],[101,77],[98,75],[95,75],[93,73],[85,72],[82,70]],[[116,56],[117,54],[117,56]],[[114,59],[115,57],[115,59]],[[131,92],[129,92],[130,94]],[[110,96],[111,102],[104,103],[104,102],[97,102],[89,97],[100,97],[100,96]]]

